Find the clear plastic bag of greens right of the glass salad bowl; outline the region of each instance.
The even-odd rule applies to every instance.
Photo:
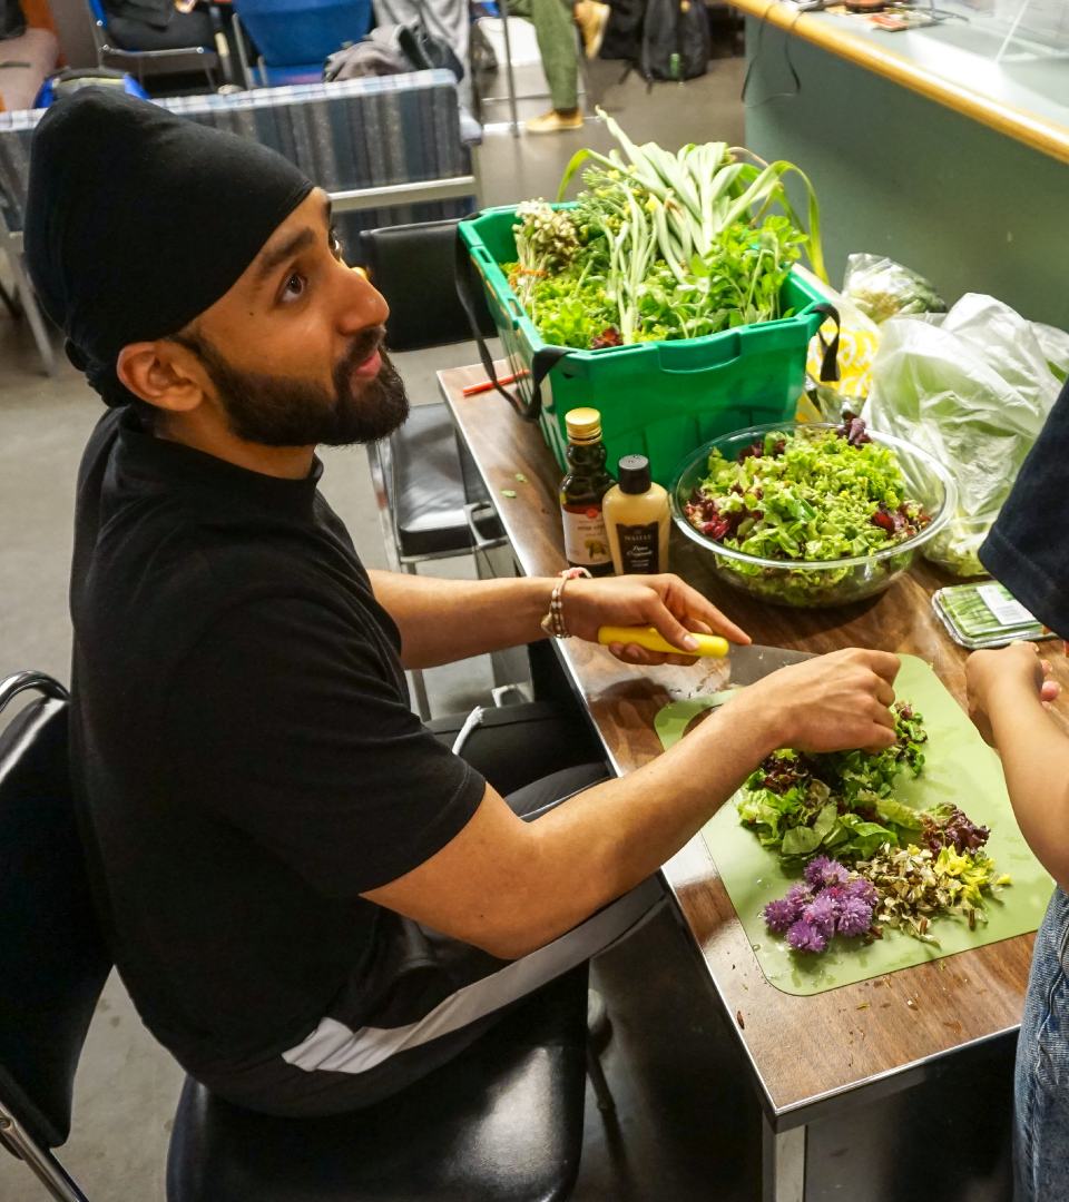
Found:
[[[925,548],[928,559],[984,575],[980,545],[1058,398],[1063,363],[1069,334],[975,292],[945,315],[884,325],[863,417],[933,454],[957,481],[957,512]]]

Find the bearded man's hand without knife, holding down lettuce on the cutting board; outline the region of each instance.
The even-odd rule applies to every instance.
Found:
[[[776,748],[884,751],[896,738],[891,706],[899,667],[889,651],[850,647],[773,672],[742,689],[726,709],[749,708],[767,724]]]

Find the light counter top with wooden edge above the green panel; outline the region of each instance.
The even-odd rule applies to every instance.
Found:
[[[944,73],[934,66],[932,61],[934,53],[925,55],[930,61],[917,61],[916,55],[904,53],[908,48],[925,44],[916,41],[925,38],[921,30],[889,34],[873,28],[872,34],[868,31],[862,34],[863,26],[851,29],[848,19],[827,13],[798,13],[779,0],[729,0],[729,2],[749,17],[778,25],[832,54],[893,79],[895,83],[966,117],[972,117],[982,125],[998,130],[999,133],[1005,133],[1043,154],[1069,163],[1069,126],[1008,102],[991,90],[985,91],[974,87],[974,82],[991,83],[992,70],[998,71],[992,63],[979,55],[972,56],[975,61],[972,70],[956,72],[957,78],[955,78],[955,73]],[[927,41],[926,49],[938,50],[937,44],[925,41]],[[895,47],[899,47],[901,52]],[[964,52],[948,47],[944,48],[944,53],[952,58]],[[1015,94],[1017,91],[1020,89],[1015,89]]]

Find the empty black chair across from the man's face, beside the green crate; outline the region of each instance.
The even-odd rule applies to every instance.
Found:
[[[455,284],[457,221],[366,230],[361,257],[390,305],[391,351],[447,346],[471,338]],[[480,294],[480,327],[497,333]],[[388,439],[368,447],[379,519],[390,566],[416,573],[432,559],[470,555],[505,542],[486,488],[457,441],[443,401],[412,397],[409,419]],[[416,708],[430,716],[423,673],[412,672]]]

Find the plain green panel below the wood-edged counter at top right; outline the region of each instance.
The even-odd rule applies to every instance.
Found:
[[[798,37],[747,22],[747,145],[788,159],[821,202],[831,282],[871,251],[949,303],[988,292],[1069,329],[1069,166]],[[979,65],[979,60],[978,60]]]

